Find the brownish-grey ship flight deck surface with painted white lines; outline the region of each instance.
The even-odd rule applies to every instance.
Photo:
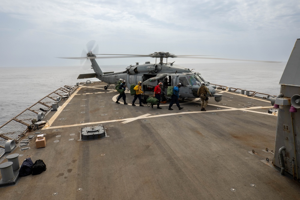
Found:
[[[116,104],[114,86],[103,86],[79,85],[46,115],[50,126],[28,133],[46,134],[45,148],[36,136],[28,150],[18,144],[20,164],[42,159],[47,169],[0,188],[2,199],[299,198],[299,183],[271,166],[277,116],[268,100],[218,91],[222,101],[211,98],[206,112],[199,99],[152,109],[131,106],[130,93]],[[80,141],[82,127],[98,124],[109,137]]]

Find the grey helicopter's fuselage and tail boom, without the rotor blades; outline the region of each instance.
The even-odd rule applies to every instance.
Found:
[[[201,82],[205,82],[206,87],[210,93],[215,97],[215,100],[221,101],[222,94],[216,94],[214,86],[211,86],[209,82],[201,76],[199,72],[192,72],[190,69],[182,69],[177,65],[171,64],[153,64],[146,62],[145,64],[131,65],[126,67],[123,72],[111,72],[103,73],[98,63],[95,61],[95,55],[91,55],[91,67],[95,73],[90,74],[91,76],[85,77],[79,75],[81,78],[96,77],[99,80],[110,84],[116,84],[120,79],[126,81],[126,85],[130,88],[131,84],[137,85],[139,81],[142,82],[143,91],[147,95],[154,94],[154,88],[159,82],[162,82],[161,88],[161,100],[163,101],[167,96],[167,88],[169,86],[176,86],[179,82],[182,84],[179,92],[180,98],[198,98],[197,91],[200,87]],[[78,77],[78,78],[79,78]],[[107,86],[108,86],[107,85]],[[105,89],[107,89],[107,86]]]

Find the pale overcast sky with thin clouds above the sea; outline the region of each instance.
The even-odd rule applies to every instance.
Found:
[[[287,61],[300,38],[300,1],[1,0],[0,34],[0,67],[80,65],[79,60],[55,57],[79,57],[90,40],[97,41],[103,54],[164,51]],[[98,63],[145,61],[155,58]]]

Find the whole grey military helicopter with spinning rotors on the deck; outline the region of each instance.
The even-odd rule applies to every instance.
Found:
[[[95,47],[95,40],[90,41],[87,45]],[[94,48],[93,49],[96,49]],[[97,46],[98,48],[98,46]],[[174,62],[168,63],[168,58],[202,58],[202,59],[221,59],[221,60],[236,60],[236,61],[253,61],[253,60],[239,60],[239,59],[227,59],[227,58],[204,58],[204,57],[192,57],[192,56],[204,56],[204,55],[174,55],[169,52],[154,52],[148,55],[128,55],[128,54],[97,54],[93,53],[89,48],[89,51],[82,51],[81,57],[59,57],[59,58],[68,58],[68,59],[89,59],[91,62],[91,67],[94,70],[94,73],[88,74],[79,74],[77,79],[86,79],[86,78],[97,78],[105,83],[104,89],[107,89],[111,84],[117,84],[120,80],[125,80],[127,85],[135,84],[139,81],[142,82],[142,87],[145,95],[154,94],[154,88],[160,82],[163,83],[161,88],[161,99],[160,101],[165,101],[167,97],[167,88],[169,86],[176,86],[178,83],[181,83],[181,88],[179,92],[179,98],[184,99],[195,99],[199,98],[197,91],[200,87],[201,82],[205,83],[205,86],[208,88],[212,97],[216,102],[222,100],[223,94],[216,93],[216,86],[210,85],[206,81],[201,73],[193,72],[190,69],[181,68],[178,65],[175,65]],[[97,50],[95,50],[97,51]],[[110,57],[97,57],[97,55],[109,55]],[[99,67],[96,58],[124,58],[124,57],[151,57],[159,58],[159,63],[150,63],[145,62],[145,64],[139,64],[138,62],[135,65],[130,65],[126,67],[125,71],[122,72],[103,72]],[[166,58],[166,63],[163,59]],[[254,61],[254,62],[273,62],[273,61]]]

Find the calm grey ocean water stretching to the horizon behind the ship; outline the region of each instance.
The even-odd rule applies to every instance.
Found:
[[[212,84],[256,91],[276,96],[286,62],[281,63],[202,63],[178,64],[200,72]],[[103,72],[125,71],[128,65],[102,65]],[[64,85],[76,85],[81,73],[93,73],[90,67],[0,67],[0,126]],[[89,79],[97,81],[98,79]]]

